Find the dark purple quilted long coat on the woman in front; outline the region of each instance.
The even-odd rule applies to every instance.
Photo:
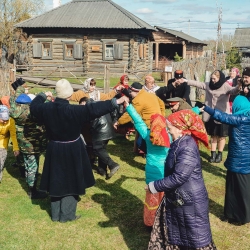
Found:
[[[212,241],[208,195],[201,170],[200,153],[194,139],[185,135],[171,144],[165,178],[154,182],[166,195],[166,225],[170,244],[200,248]],[[184,204],[176,206],[175,201]]]

